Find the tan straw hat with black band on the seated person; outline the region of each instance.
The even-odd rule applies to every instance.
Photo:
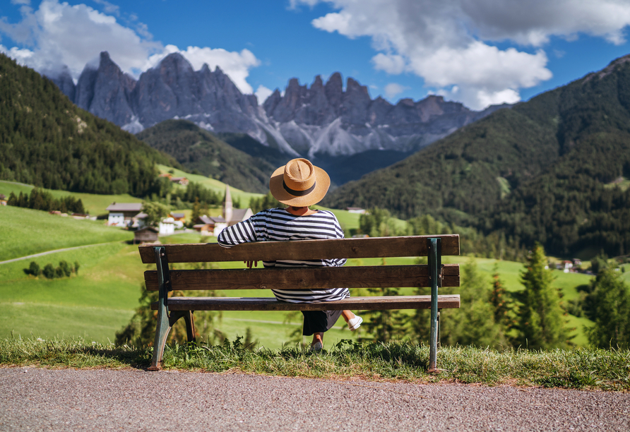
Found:
[[[326,172],[306,159],[293,159],[273,172],[269,189],[273,198],[293,207],[319,203],[331,186]]]

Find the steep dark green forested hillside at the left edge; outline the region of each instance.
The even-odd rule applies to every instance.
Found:
[[[171,157],[79,109],[47,78],[0,54],[0,179],[143,196]]]

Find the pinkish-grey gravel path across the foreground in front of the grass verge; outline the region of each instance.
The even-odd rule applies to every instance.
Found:
[[[316,409],[316,412],[314,412]],[[630,431],[630,394],[0,368],[0,431]]]

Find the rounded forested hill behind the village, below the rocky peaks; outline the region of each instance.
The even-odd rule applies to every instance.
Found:
[[[191,121],[162,121],[138,133],[137,137],[152,148],[171,155],[189,171],[244,191],[268,191],[269,177],[275,169],[273,165],[261,157],[237,150]]]

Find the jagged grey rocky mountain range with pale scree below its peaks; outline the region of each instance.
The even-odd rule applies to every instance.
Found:
[[[290,157],[338,157],[390,150],[398,160],[461,126],[494,112],[471,111],[429,96],[393,105],[369,96],[367,87],[340,73],[309,86],[292,78],[263,104],[243,95],[220,68],[194,71],[179,53],[169,54],[138,80],[123,73],[107,52],[83,69],[78,82],[66,69],[46,73],[78,107],[138,133],[167,119],[186,119],[214,133],[246,133]],[[391,157],[389,157],[391,160]]]

